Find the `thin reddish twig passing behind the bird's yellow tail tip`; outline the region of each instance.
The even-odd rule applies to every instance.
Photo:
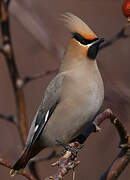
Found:
[[[3,160],[0,158],[0,165],[7,167],[9,169],[12,169],[13,165],[8,163],[7,161]],[[24,176],[25,178],[29,179],[29,180],[36,180],[31,174],[27,173],[26,171],[23,171],[21,173],[18,173],[19,175]]]

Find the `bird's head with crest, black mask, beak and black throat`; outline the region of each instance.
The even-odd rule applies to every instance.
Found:
[[[79,17],[71,13],[66,13],[63,17],[66,27],[72,34],[69,50],[75,56],[83,55],[90,60],[95,60],[99,45],[104,39],[98,38]]]

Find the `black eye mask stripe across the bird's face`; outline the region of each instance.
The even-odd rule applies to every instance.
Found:
[[[72,35],[73,35],[73,38],[75,38],[78,42],[80,42],[83,45],[88,45],[88,44],[91,44],[92,42],[98,40],[98,38],[95,38],[93,40],[85,39],[78,33],[72,33]]]

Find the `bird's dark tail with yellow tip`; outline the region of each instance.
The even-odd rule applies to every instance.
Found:
[[[31,151],[28,147],[25,147],[19,159],[14,164],[13,168],[10,171],[10,175],[14,176],[17,172],[22,172],[30,160]]]

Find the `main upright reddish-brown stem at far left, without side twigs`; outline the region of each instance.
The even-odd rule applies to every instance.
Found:
[[[4,0],[0,1],[0,25],[3,40],[2,51],[5,55],[6,63],[14,89],[18,119],[17,127],[19,129],[22,144],[24,145],[27,137],[25,101],[23,89],[19,87],[17,83],[19,79],[21,79],[21,77],[16,66],[15,56],[11,42],[8,5],[9,1],[7,1],[7,3]]]

